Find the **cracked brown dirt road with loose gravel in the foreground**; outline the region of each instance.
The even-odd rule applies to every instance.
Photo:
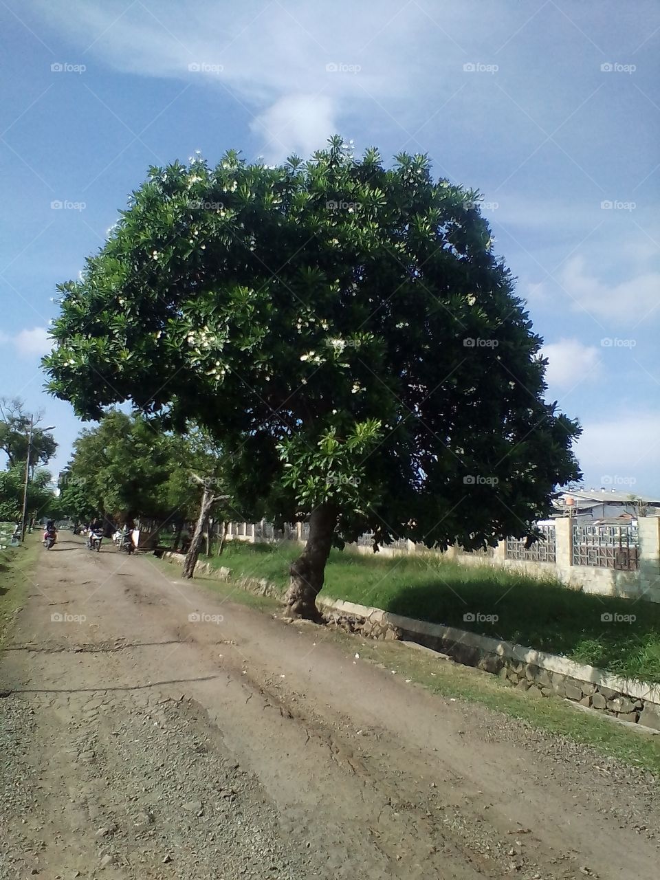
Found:
[[[178,574],[43,551],[0,666],[3,880],[656,880],[643,774]]]

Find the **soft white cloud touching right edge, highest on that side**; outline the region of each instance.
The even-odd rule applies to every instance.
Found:
[[[619,283],[601,281],[576,256],[560,275],[561,285],[574,300],[574,310],[598,318],[636,324],[660,305],[660,272],[644,272]]]

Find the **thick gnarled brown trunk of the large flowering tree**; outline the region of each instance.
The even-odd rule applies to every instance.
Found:
[[[284,602],[294,617],[320,622],[321,615],[316,607],[325,580],[326,561],[333,543],[337,511],[329,504],[320,504],[312,510],[310,517],[310,536],[304,550],[297,560],[291,562],[290,585]]]

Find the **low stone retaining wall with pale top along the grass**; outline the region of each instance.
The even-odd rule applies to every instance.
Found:
[[[180,565],[185,559],[183,554],[169,552],[162,558]],[[239,589],[261,596],[282,598],[281,591],[265,578],[243,577],[234,581],[229,568],[213,568],[206,562],[197,562],[195,573],[231,581]],[[660,730],[660,686],[609,675],[595,666],[576,664],[567,657],[513,642],[499,642],[456,627],[390,614],[380,608],[323,596],[319,596],[318,604],[331,627],[370,639],[416,642],[450,656],[456,663],[497,675],[517,690],[534,690],[544,697],[556,695],[615,715],[622,721]]]

